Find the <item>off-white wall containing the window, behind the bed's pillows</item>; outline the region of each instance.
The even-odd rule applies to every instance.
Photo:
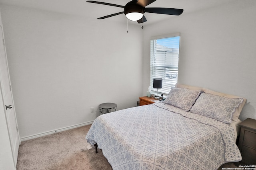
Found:
[[[180,32],[178,83],[245,97],[240,119],[256,119],[255,30],[255,0],[238,0],[145,27],[143,94],[150,82],[150,37]]]

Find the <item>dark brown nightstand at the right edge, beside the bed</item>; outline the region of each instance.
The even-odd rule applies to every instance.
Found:
[[[256,164],[256,120],[247,118],[240,124],[238,148],[242,154],[242,162],[248,165]]]

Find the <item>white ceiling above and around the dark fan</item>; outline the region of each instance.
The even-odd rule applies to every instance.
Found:
[[[125,6],[125,4],[128,3],[130,0],[96,1]],[[146,7],[180,8],[184,9],[184,12],[181,15],[185,15],[191,12],[220,6],[222,4],[233,1],[236,0],[156,0],[155,2]],[[122,12],[124,10],[123,8],[118,8],[114,6],[88,3],[86,2],[86,0],[0,0],[0,4],[23,6],[66,14],[75,14],[89,18],[95,18],[95,20],[96,18],[107,16],[117,12]],[[149,25],[158,21],[178,16],[146,13],[145,17],[148,21],[146,21],[144,25]],[[126,17],[124,16],[124,14],[120,14],[118,16],[106,18],[104,20],[126,22]],[[134,21],[133,23],[138,24],[136,21]]]

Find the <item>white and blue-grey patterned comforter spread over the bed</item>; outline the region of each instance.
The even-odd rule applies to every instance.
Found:
[[[164,103],[97,117],[86,135],[114,170],[205,170],[242,160],[229,124]]]

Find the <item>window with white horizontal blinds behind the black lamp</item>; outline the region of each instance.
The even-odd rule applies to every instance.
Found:
[[[179,50],[180,33],[152,37],[150,41],[150,86],[153,87],[153,78],[162,78],[160,93],[168,94],[178,82]]]

